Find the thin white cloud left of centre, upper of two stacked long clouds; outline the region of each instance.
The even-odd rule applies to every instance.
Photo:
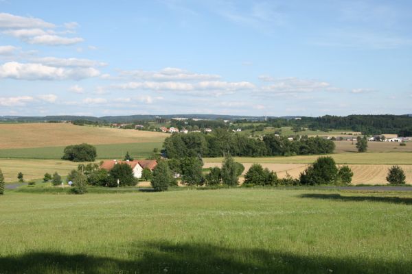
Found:
[[[165,68],[161,71],[122,71],[122,76],[151,81],[192,81],[220,79],[220,75],[200,74],[177,68]]]

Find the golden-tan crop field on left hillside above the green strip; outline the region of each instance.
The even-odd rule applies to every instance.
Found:
[[[58,147],[82,142],[91,145],[163,142],[167,136],[159,132],[82,127],[69,123],[0,124],[0,149]]]

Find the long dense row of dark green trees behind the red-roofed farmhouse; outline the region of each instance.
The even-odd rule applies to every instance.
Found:
[[[332,153],[334,142],[320,137],[288,140],[275,134],[264,136],[263,140],[249,138],[244,134],[233,134],[225,129],[216,129],[214,134],[173,134],[165,139],[163,147],[168,158],[308,155]]]

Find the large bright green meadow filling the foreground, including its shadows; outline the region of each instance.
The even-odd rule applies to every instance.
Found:
[[[410,273],[412,194],[0,197],[0,273]]]

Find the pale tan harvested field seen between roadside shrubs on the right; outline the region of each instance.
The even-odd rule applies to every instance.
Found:
[[[242,162],[244,165],[244,173],[246,173],[251,167],[252,163]],[[205,168],[212,166],[221,166],[220,162],[205,164]],[[299,177],[299,174],[306,169],[307,164],[262,164],[264,168],[268,168],[271,171],[277,173],[277,177],[283,178],[286,173],[292,177]],[[352,177],[352,184],[387,184],[386,176],[388,169],[391,167],[389,164],[349,164],[350,169],[354,173]],[[412,166],[402,165],[405,175],[407,175],[407,184],[412,184]],[[244,174],[243,173],[243,174]],[[242,180],[241,180],[242,181]]]

